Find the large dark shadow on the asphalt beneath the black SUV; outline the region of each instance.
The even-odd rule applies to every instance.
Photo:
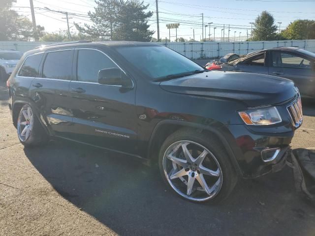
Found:
[[[134,157],[59,140],[24,150],[64,199],[119,235],[282,236],[315,230],[309,216],[314,209],[295,193],[289,168],[239,181],[227,201],[212,206],[176,196],[157,168]]]

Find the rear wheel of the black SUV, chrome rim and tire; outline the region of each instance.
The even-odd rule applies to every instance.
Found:
[[[17,133],[20,142],[24,146],[37,146],[48,140],[48,135],[36,115],[33,114],[32,107],[29,104],[25,104],[19,113]]]

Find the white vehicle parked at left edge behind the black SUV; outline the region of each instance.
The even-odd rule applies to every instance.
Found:
[[[5,81],[14,70],[23,53],[0,49],[0,81]]]

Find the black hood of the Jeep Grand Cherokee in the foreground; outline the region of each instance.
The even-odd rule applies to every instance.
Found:
[[[233,99],[249,107],[284,102],[297,93],[290,80],[276,76],[210,71],[160,83],[169,92]]]

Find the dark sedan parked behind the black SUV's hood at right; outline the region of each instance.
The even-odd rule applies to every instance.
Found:
[[[315,99],[315,53],[279,47],[251,53],[222,65],[222,70],[274,75],[294,81],[304,98]]]

